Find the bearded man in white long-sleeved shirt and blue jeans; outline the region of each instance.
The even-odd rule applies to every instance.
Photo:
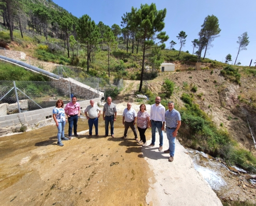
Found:
[[[154,147],[155,146],[155,141],[156,141],[156,128],[159,133],[159,151],[162,151],[163,149],[163,133],[162,131],[164,130],[164,124],[165,124],[165,108],[160,104],[161,102],[161,97],[156,97],[155,99],[156,104],[151,106],[150,109],[150,122],[149,122],[149,127],[152,128],[152,142],[148,146]]]

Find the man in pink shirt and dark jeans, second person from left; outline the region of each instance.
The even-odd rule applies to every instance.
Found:
[[[78,117],[80,116],[80,105],[77,102],[77,97],[73,96],[72,101],[69,102],[65,107],[65,113],[68,116],[68,139],[71,140],[72,136],[72,128],[74,126],[74,135],[78,136],[77,128],[78,128]]]

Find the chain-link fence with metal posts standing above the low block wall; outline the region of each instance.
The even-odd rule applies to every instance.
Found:
[[[0,104],[8,104],[6,114],[53,107],[57,99],[70,101],[52,81],[0,81]]]

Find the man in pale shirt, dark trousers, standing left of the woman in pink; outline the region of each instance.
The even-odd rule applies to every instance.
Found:
[[[125,108],[125,110],[123,112],[123,125],[125,125],[125,133],[124,133],[123,139],[127,138],[127,131],[130,127],[131,130],[133,131],[135,140],[137,142],[139,141],[138,135],[137,135],[137,129],[135,127],[136,118],[137,118],[137,114],[136,114],[135,110],[131,108],[131,103],[128,102],[127,108]]]

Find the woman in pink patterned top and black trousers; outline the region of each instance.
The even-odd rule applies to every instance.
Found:
[[[143,142],[143,147],[147,146],[145,131],[147,130],[147,128],[149,128],[149,114],[146,110],[146,106],[142,104],[140,106],[140,111],[137,114],[137,127],[140,132],[141,138],[141,140],[138,143]]]

